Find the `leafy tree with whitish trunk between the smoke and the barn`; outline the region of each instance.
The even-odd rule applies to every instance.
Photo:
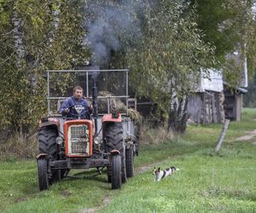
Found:
[[[212,49],[202,41],[195,12],[187,5],[161,0],[148,4],[143,34],[130,49],[132,81],[138,95],[151,97],[168,118],[168,130],[186,128],[188,95],[202,66],[212,63]]]

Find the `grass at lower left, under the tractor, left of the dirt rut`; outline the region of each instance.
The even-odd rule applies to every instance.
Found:
[[[2,163],[0,170],[1,212],[77,212],[115,193],[106,176],[93,177],[96,171],[76,170],[81,179],[63,180],[40,193],[36,162]]]

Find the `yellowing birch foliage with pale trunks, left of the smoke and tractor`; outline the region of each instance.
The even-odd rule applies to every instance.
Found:
[[[7,0],[0,10],[0,127],[27,135],[46,113],[45,70],[88,60],[80,1]]]

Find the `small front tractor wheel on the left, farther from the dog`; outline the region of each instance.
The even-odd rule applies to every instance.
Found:
[[[46,159],[38,159],[38,183],[39,183],[40,191],[43,191],[49,188]]]

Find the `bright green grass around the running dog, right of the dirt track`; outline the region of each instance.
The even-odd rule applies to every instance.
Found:
[[[207,148],[166,159],[156,166],[176,165],[180,169],[176,174],[154,182],[150,170],[131,179],[101,212],[256,211],[253,146],[237,144],[219,154]]]

